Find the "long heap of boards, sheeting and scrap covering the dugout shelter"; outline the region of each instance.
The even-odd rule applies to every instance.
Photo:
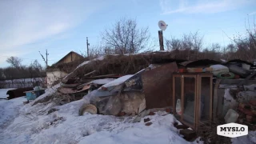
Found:
[[[80,115],[84,112],[115,116],[138,114],[140,120],[142,115],[148,114],[146,110],[149,109],[170,108],[170,111],[174,111],[172,93],[174,73],[213,74],[213,87],[220,89],[222,82],[218,83],[216,79],[225,80],[225,82],[235,80],[239,82],[238,86],[243,86],[248,80],[256,80],[256,63],[241,60],[218,62],[209,59],[186,61],[173,59],[171,54],[166,53],[107,55],[82,62],[73,72],[62,78],[58,93],[69,95],[70,101],[88,98],[90,105],[83,105],[79,110]],[[214,90],[214,94],[219,94],[218,90],[216,91]],[[255,86],[254,91],[256,91]],[[234,100],[235,105],[231,106],[229,103],[229,106],[220,108],[218,104],[224,102],[223,105],[226,105],[225,102],[227,102],[225,94],[221,95],[222,98],[216,97],[217,100],[215,98],[213,101],[210,100],[210,102],[217,103],[212,108],[216,115],[218,111],[226,115],[228,110],[238,106],[238,101]],[[234,96],[234,99],[239,98]],[[254,99],[252,97],[242,102]],[[242,107],[242,113],[246,114],[247,122],[253,123],[254,115],[247,114],[246,107]],[[253,110],[254,107],[251,109]],[[194,132],[191,133],[186,128],[182,130],[183,132],[189,133],[190,136],[186,136],[187,139],[193,139],[190,137],[191,135],[194,137]]]

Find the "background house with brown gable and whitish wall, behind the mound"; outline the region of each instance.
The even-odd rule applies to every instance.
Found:
[[[70,72],[72,72],[84,60],[85,58],[82,55],[74,51],[70,51],[69,54],[66,54],[58,62],[47,67],[47,87],[52,86],[54,82],[58,82],[61,78],[66,77],[67,74],[70,74]]]

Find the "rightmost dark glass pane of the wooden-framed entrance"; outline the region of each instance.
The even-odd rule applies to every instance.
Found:
[[[201,82],[200,121],[207,121],[210,118],[210,77],[202,77]]]

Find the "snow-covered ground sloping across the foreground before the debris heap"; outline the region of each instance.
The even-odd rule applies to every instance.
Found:
[[[39,98],[52,92],[48,90]],[[62,106],[52,102],[23,105],[23,101],[26,98],[0,100],[0,143],[190,143],[178,134],[174,116],[166,112],[146,116],[153,124],[145,126],[144,118],[134,123],[132,116],[78,116],[86,98]]]

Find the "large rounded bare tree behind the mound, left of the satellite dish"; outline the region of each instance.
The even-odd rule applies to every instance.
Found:
[[[138,28],[136,19],[121,18],[102,33],[102,40],[115,54],[138,53],[147,46],[148,27]]]

